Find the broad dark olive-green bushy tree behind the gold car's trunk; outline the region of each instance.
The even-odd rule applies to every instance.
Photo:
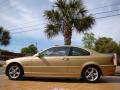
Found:
[[[101,37],[95,42],[95,50],[101,53],[119,54],[118,44],[112,38]]]

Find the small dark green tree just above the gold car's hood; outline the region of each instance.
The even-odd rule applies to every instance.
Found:
[[[38,52],[37,47],[34,44],[29,45],[21,49],[21,53],[25,55],[34,55]]]

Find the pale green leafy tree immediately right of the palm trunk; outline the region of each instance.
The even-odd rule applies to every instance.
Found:
[[[85,33],[82,41],[85,48],[93,49],[96,38],[94,37],[93,33]]]

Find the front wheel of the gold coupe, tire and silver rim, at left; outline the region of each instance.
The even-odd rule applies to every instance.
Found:
[[[10,80],[20,80],[23,78],[23,69],[18,64],[11,64],[7,68],[7,75]]]

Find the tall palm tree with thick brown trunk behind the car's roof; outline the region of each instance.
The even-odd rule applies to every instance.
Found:
[[[52,10],[44,12],[48,20],[45,34],[48,38],[53,38],[62,33],[64,44],[71,45],[72,31],[78,33],[90,29],[95,19],[88,15],[81,0],[57,0]]]

